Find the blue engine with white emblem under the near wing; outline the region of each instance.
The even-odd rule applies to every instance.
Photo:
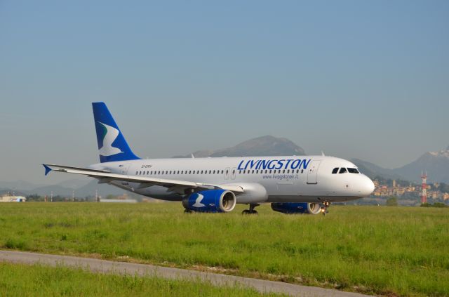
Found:
[[[229,190],[204,190],[182,199],[182,206],[191,211],[227,213],[236,206],[236,195]]]

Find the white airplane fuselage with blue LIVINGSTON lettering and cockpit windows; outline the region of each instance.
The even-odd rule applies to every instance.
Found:
[[[236,203],[343,202],[367,197],[374,190],[370,178],[354,172],[356,166],[350,161],[326,156],[139,159],[93,164],[89,168],[129,176],[247,187],[246,194],[236,195]],[[335,169],[337,173],[333,173]],[[119,180],[110,184],[157,199],[180,201],[185,196],[159,185],[139,188],[138,183]],[[259,194],[260,189],[255,188],[253,196],[260,197],[248,198],[253,185],[262,185],[266,194]]]

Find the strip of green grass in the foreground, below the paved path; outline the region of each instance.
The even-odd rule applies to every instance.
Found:
[[[0,296],[261,296],[253,289],[0,262]],[[274,295],[271,295],[274,296]]]

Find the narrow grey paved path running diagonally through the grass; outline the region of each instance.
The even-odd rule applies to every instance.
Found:
[[[0,251],[0,261],[11,263],[41,263],[45,265],[67,265],[82,267],[93,272],[105,272],[129,275],[156,275],[167,279],[201,279],[217,286],[232,286],[240,284],[243,287],[253,287],[262,293],[286,293],[289,296],[303,297],[356,297],[366,296],[358,293],[349,293],[333,289],[322,289],[314,286],[300,286],[284,282],[272,282],[248,277],[235,277],[232,275],[220,275],[211,272],[199,272],[179,268],[166,268],[155,265],[115,262],[110,260],[98,260],[92,258],[80,258],[72,256],[47,255],[43,253],[27,253],[22,251]],[[371,296],[372,297],[372,296]]]

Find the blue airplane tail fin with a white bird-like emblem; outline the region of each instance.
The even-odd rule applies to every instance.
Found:
[[[100,162],[140,159],[126,143],[119,126],[117,126],[105,103],[92,103],[92,108],[97,131]]]

